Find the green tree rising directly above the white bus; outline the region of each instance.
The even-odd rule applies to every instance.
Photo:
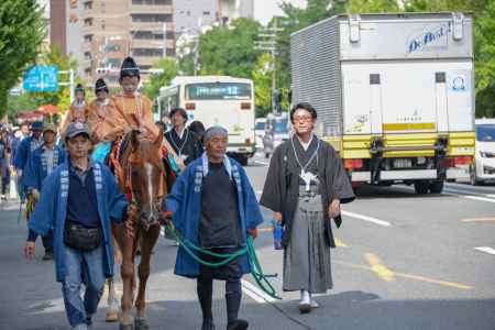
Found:
[[[201,75],[229,75],[251,78],[258,53],[254,42],[261,25],[251,19],[238,19],[217,26],[199,37]]]

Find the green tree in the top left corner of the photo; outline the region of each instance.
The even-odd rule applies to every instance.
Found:
[[[1,1],[0,22],[0,117],[3,117],[9,90],[26,65],[34,63],[46,29],[35,0]]]

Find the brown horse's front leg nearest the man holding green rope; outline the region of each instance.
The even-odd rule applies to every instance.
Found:
[[[146,293],[146,282],[150,277],[150,262],[153,248],[156,244],[156,241],[160,237],[160,226],[153,226],[148,229],[148,231],[142,231],[141,237],[141,262],[139,266],[139,277],[140,277],[140,287],[138,292],[138,299],[135,300],[135,307],[138,309],[138,318],[135,322],[136,330],[150,329],[146,321],[146,302],[145,302],[145,293]]]

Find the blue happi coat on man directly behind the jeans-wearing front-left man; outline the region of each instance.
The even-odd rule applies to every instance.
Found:
[[[65,162],[65,151],[58,145],[54,145],[53,147],[53,164],[54,169],[58,165],[63,164]],[[35,188],[37,190],[41,190],[43,187],[43,180],[48,175],[47,173],[47,160],[46,160],[46,153],[45,150],[42,147],[36,148],[29,162],[28,165],[24,167],[24,173],[22,175],[22,184],[28,188]]]

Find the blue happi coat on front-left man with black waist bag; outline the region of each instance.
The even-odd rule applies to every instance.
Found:
[[[54,169],[43,184],[41,199],[36,204],[34,215],[29,221],[30,229],[40,235],[46,235],[53,228],[53,248],[55,256],[56,279],[63,282],[66,275],[64,261],[64,226],[67,217],[67,197],[69,189],[69,160]],[[119,193],[114,176],[102,164],[92,165],[98,201],[98,215],[105,237],[105,275],[113,276],[113,246],[111,243],[110,218],[120,222],[128,201]]]

